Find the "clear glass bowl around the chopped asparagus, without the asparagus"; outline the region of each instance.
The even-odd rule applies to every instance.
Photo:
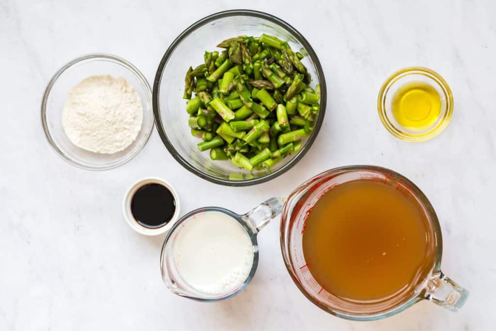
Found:
[[[186,100],[183,99],[184,78],[189,66],[203,63],[203,53],[213,51],[224,39],[239,36],[276,35],[287,41],[293,50],[308,54],[302,62],[307,66],[314,87],[320,84],[320,112],[315,127],[303,148],[287,156],[274,169],[250,174],[230,161],[213,161],[208,151],[200,152],[187,125]],[[253,10],[228,10],[207,16],[176,38],[165,53],[153,85],[153,112],[157,130],[172,156],[187,170],[210,182],[228,186],[248,186],[271,180],[293,167],[307,153],[320,130],[325,114],[326,85],[322,67],[308,41],[281,19]]]

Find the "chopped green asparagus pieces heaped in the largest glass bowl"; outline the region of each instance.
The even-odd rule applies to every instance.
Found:
[[[189,67],[183,97],[191,134],[212,160],[248,171],[272,169],[302,148],[320,111],[320,86],[286,41],[262,34],[222,41]],[[275,110],[275,111],[274,111]],[[253,175],[242,175],[242,179]]]

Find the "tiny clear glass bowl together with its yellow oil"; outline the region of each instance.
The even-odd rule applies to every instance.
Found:
[[[441,133],[453,113],[453,96],[435,71],[408,67],[386,79],[377,98],[384,127],[407,141],[426,141]]]

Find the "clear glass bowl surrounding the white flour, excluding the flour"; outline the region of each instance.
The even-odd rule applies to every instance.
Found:
[[[62,127],[62,108],[70,89],[93,75],[124,77],[141,98],[143,123],[136,139],[124,150],[100,154],[75,146]],[[152,94],[146,78],[129,62],[110,54],[88,54],[62,66],[52,77],[43,95],[41,122],[45,135],[59,156],[70,164],[87,170],[107,170],[123,165],[136,156],[153,130]]]

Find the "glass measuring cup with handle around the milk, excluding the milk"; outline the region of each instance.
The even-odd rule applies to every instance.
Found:
[[[227,299],[241,292],[253,278],[258,265],[258,243],[256,236],[271,219],[281,213],[282,206],[282,199],[271,198],[262,202],[260,205],[243,215],[221,207],[198,208],[184,215],[171,228],[165,238],[164,245],[162,246],[162,253],[160,255],[160,269],[165,286],[167,286],[167,288],[169,288],[169,290],[171,290],[174,294],[203,302],[213,302]],[[248,234],[253,248],[253,263],[248,277],[234,289],[230,289],[229,291],[223,293],[208,293],[194,288],[184,280],[184,277],[181,276],[181,273],[178,271],[178,265],[175,261],[177,238],[180,232],[188,225],[189,222],[194,222],[202,214],[211,211],[224,213],[230,216],[234,222],[239,222]]]

